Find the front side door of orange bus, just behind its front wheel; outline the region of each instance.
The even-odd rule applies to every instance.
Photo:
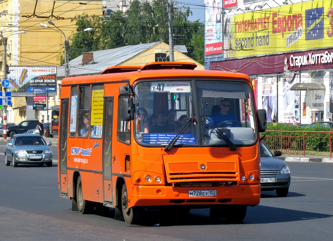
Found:
[[[104,99],[103,116],[103,200],[104,205],[113,207],[112,190],[112,118],[113,118],[113,97]]]

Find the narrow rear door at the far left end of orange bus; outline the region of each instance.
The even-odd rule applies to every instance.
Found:
[[[68,129],[68,107],[69,100],[61,100],[61,118],[58,143],[58,167],[60,180],[60,197],[68,198],[68,180],[67,180],[67,129]]]

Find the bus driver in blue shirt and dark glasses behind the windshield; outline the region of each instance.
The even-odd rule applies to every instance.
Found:
[[[217,111],[212,114],[211,118],[215,126],[220,127],[240,127],[240,122],[237,120],[237,117],[228,112],[230,108],[230,102],[227,99],[222,99],[220,101],[221,111]]]

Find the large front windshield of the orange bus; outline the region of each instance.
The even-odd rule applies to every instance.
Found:
[[[134,92],[139,144],[242,146],[257,139],[252,91],[245,81],[144,81]]]

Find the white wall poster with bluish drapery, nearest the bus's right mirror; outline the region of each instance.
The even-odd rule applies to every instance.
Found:
[[[267,110],[267,121],[277,120],[276,77],[262,78],[262,108]]]

